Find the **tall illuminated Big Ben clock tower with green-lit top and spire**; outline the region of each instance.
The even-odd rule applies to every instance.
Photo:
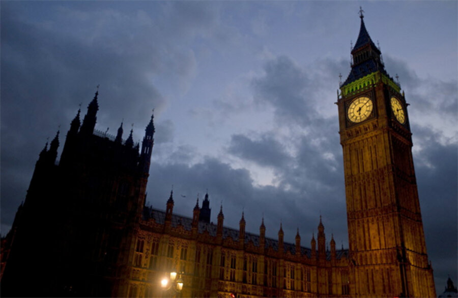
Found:
[[[404,92],[361,28],[340,85],[352,296],[436,296],[426,254]]]

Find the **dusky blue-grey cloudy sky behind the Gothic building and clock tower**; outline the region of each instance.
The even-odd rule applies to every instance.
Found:
[[[148,205],[310,246],[348,247],[336,94],[360,19],[399,76],[438,293],[457,264],[457,2],[16,2],[1,7],[1,223],[38,154],[99,89],[96,129],[140,141],[155,109]],[[59,158],[59,157],[58,157]],[[65,196],[63,196],[65,200]],[[202,202],[202,200],[201,200]]]

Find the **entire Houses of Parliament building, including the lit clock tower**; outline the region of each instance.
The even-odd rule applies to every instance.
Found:
[[[145,206],[153,116],[140,144],[95,130],[98,91],[82,121],[46,144],[9,234],[3,296],[433,297],[404,92],[385,70],[362,11],[351,72],[337,98],[349,248],[318,234],[295,243],[210,222],[210,197],[189,217]],[[165,196],[167,197],[168,194]],[[164,200],[165,201],[165,200]],[[267,219],[266,219],[267,220]],[[330,249],[326,242],[329,241]],[[160,280],[176,270],[180,293]]]

